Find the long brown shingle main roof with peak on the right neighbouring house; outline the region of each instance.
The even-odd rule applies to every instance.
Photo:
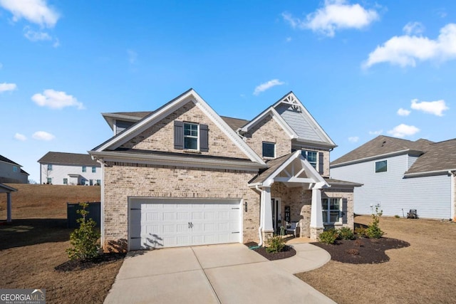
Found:
[[[334,160],[331,162],[331,166],[403,150],[413,150],[422,154],[423,152],[427,151],[430,144],[432,144],[430,140],[420,139],[412,142],[411,140],[402,140],[400,138],[379,135],[373,140],[366,142],[366,144],[362,145],[361,147],[358,147],[355,150],[348,152],[342,157]]]

